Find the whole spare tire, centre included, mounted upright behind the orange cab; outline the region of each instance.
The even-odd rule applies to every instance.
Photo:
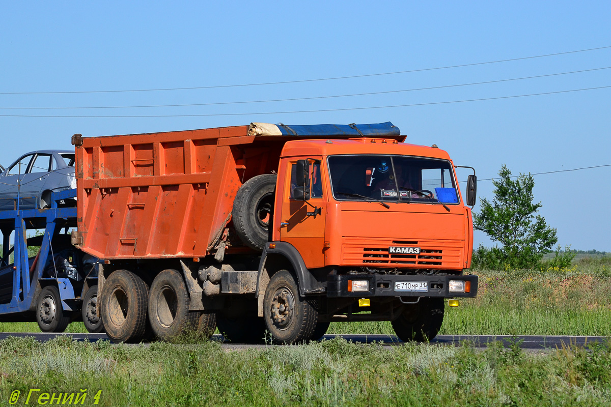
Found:
[[[274,208],[276,175],[257,175],[244,182],[233,201],[233,226],[248,247],[263,250]]]

